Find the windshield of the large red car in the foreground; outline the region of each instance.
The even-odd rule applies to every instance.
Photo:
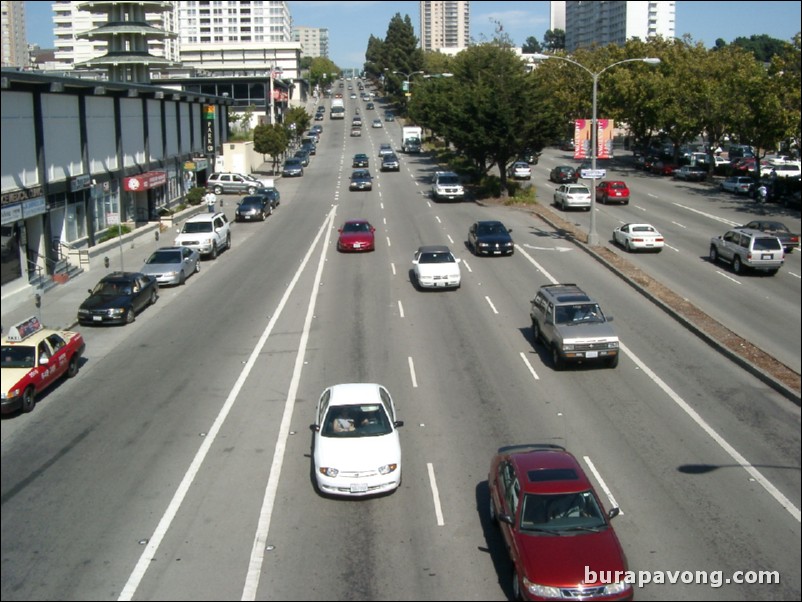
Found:
[[[521,509],[521,530],[595,530],[605,527],[596,497],[590,491],[524,496]]]

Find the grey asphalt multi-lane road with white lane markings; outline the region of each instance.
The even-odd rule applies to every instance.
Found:
[[[234,224],[231,251],[136,323],[83,329],[79,377],[3,421],[3,600],[507,599],[487,470],[498,447],[531,442],[564,445],[620,506],[633,570],[779,575],[713,587],[684,573],[636,598],[798,600],[799,407],[528,212],[433,204],[425,155],[379,173],[379,143],[397,147],[399,124],[359,138],[349,124],[323,122],[272,217]],[[348,191],[357,152],[372,159],[371,192]],[[563,158],[547,151],[534,167],[541,198]],[[669,247],[632,260],[798,368],[799,254],[774,278],[736,278],[704,259],[708,240],[754,208],[625,177],[633,200],[600,206],[602,240],[619,221],[654,223]],[[374,253],[336,252],[348,218],[376,226]],[[477,219],[511,227],[515,255],[473,257]],[[422,244],[462,258],[459,290],[415,290]],[[549,282],[580,284],[614,316],[618,368],[556,372],[533,347],[529,300]],[[326,386],[354,381],[394,396],[403,484],[324,499],[309,425]]]

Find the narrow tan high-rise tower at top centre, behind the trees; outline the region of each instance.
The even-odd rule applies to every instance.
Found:
[[[421,2],[420,40],[423,50],[456,53],[471,40],[470,2]]]

